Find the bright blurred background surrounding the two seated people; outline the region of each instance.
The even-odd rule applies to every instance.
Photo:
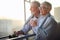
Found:
[[[0,37],[13,34],[23,28],[31,15],[30,2],[48,1],[52,4],[51,15],[60,22],[60,0],[0,0]]]

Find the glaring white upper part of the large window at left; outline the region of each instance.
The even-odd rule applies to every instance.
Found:
[[[24,20],[23,0],[0,0],[0,19]]]

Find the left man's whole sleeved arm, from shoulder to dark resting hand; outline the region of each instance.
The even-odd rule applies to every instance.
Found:
[[[29,21],[31,20],[31,18],[33,18],[33,15],[28,18],[28,20],[26,21],[26,23],[23,26],[23,29],[16,32],[16,34],[18,34],[18,35],[19,34],[26,34],[29,30],[31,30],[31,26],[29,24]]]

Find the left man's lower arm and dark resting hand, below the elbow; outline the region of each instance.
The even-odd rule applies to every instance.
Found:
[[[23,29],[17,32],[14,32],[13,35],[19,36],[19,35],[25,35],[28,33],[28,31],[30,31],[32,28],[29,25],[29,23],[27,23],[26,25],[23,26]]]

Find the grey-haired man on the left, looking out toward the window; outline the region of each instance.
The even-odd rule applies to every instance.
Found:
[[[37,25],[37,19],[40,16],[39,7],[40,3],[38,1],[31,2],[30,11],[33,16],[26,21],[22,30],[15,32],[16,35],[27,34],[31,29],[33,30],[32,26]],[[33,32],[35,33],[35,30]]]

